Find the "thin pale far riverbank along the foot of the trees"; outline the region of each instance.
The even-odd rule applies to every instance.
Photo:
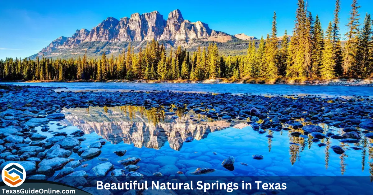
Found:
[[[6,82],[6,81],[2,81]],[[25,81],[12,81],[25,82]],[[75,80],[75,81],[26,81],[26,82],[123,82],[123,83],[205,83],[205,84],[292,84],[292,85],[342,85],[342,86],[373,86],[373,78],[356,78],[356,79],[243,79],[232,81],[228,79],[206,79],[202,81],[190,81],[186,79],[178,79],[172,81],[158,80],[109,80],[109,81],[93,81],[93,80]]]

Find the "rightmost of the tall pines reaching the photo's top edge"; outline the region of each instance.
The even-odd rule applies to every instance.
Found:
[[[356,55],[357,55],[357,44],[358,44],[358,33],[359,33],[359,16],[358,9],[360,6],[357,4],[357,0],[353,0],[351,4],[350,17],[348,18],[350,22],[346,25],[348,27],[348,32],[345,33],[347,37],[347,42],[345,44],[344,51],[344,64],[343,73],[347,77],[355,76],[356,67]]]

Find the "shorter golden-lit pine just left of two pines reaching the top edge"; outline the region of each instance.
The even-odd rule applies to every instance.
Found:
[[[326,37],[324,42],[324,51],[322,53],[322,64],[320,66],[320,76],[322,78],[333,78],[336,75],[335,72],[335,58],[333,50],[333,29],[332,22],[329,22],[329,26],[326,30]]]

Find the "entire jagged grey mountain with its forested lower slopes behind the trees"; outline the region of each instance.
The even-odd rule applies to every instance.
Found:
[[[157,11],[141,15],[134,13],[120,20],[108,17],[91,30],[76,30],[70,37],[61,36],[53,40],[46,48],[30,57],[36,58],[37,55],[44,54],[52,58],[69,58],[83,55],[86,49],[88,56],[99,56],[103,52],[117,55],[130,42],[136,52],[153,39],[163,43],[166,48],[180,45],[195,49],[198,45],[207,46],[209,42],[216,42],[220,48],[229,48],[226,51],[232,51],[233,48],[245,53],[245,41],[256,38],[245,34],[232,36],[212,30],[201,21],[185,20],[177,9],[169,13],[167,20]]]

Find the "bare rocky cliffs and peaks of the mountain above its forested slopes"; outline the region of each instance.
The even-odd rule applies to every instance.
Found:
[[[136,47],[141,45],[143,41],[151,41],[153,39],[165,40],[167,42],[166,47],[178,45],[187,47],[195,40],[227,42],[232,39],[232,36],[212,30],[209,25],[201,21],[191,22],[189,20],[184,20],[178,9],[170,12],[167,20],[164,20],[162,14],[158,11],[153,11],[143,14],[134,13],[131,14],[131,17],[122,17],[120,20],[114,17],[107,17],[91,30],[76,30],[71,37],[60,37],[54,40],[37,55],[41,56],[45,53],[45,55],[48,56],[49,53],[49,56],[53,56],[53,52],[56,53],[55,55],[62,55],[66,52],[56,50],[72,49],[76,46],[83,45],[81,43],[84,42],[92,42],[92,44],[84,44],[84,46],[81,46],[83,50],[86,49],[85,47],[89,47],[87,48],[88,52],[90,52],[89,49],[92,48],[93,51],[91,52],[99,53],[99,50],[103,48],[99,47],[100,49],[97,51],[95,45],[100,44],[100,42],[122,45],[122,43],[119,42],[139,41],[134,43]],[[109,46],[110,44],[104,43],[102,45]],[[105,51],[107,50],[108,49],[105,49]],[[109,50],[115,50],[117,52],[122,50],[122,48],[112,47]],[[80,54],[83,53],[83,51],[73,53]]]

